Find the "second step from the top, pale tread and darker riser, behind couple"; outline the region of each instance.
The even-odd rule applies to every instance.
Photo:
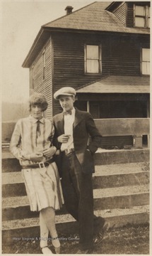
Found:
[[[148,163],[95,166],[93,188],[146,185],[149,183]],[[21,171],[2,174],[2,196],[25,196]]]

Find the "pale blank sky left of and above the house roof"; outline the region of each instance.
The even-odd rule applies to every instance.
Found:
[[[23,61],[40,31],[49,21],[64,16],[66,6],[73,11],[94,0],[2,0],[1,1],[1,100],[24,102],[29,96],[29,69]]]

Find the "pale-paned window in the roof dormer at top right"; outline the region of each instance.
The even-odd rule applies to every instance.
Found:
[[[150,6],[134,5],[134,26],[150,28]]]

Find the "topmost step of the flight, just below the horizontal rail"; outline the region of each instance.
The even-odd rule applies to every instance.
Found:
[[[149,149],[98,149],[95,153],[95,165],[126,164],[146,162],[150,159]],[[17,159],[8,151],[2,151],[2,172],[21,171]]]

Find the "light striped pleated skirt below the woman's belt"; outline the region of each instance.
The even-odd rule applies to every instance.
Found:
[[[22,169],[30,210],[52,207],[59,210],[64,198],[55,162],[42,169]]]

